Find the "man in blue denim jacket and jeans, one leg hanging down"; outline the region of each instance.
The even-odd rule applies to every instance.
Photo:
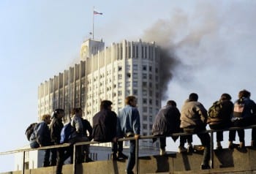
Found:
[[[120,126],[118,134],[123,137],[135,137],[135,139],[140,137],[140,114],[136,105],[136,97],[128,96],[125,98],[125,107],[118,111],[118,126]],[[135,167],[135,140],[130,140],[126,172],[133,173],[133,167]]]

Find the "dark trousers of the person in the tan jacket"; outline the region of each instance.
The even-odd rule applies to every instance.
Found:
[[[196,132],[201,132],[206,130],[206,127],[195,127],[195,128],[188,128],[188,129],[184,129],[184,132],[186,133],[196,133]],[[204,151],[203,151],[203,165],[208,165],[209,164],[209,160],[210,160],[210,135],[208,133],[197,133],[197,137],[199,137],[203,147],[204,147]]]

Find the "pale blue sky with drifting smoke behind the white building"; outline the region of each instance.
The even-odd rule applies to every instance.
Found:
[[[103,12],[94,16],[94,39],[106,46],[141,38],[170,48],[181,64],[171,70],[167,96],[179,108],[191,92],[206,108],[225,92],[236,99],[244,88],[256,99],[256,1],[1,0],[1,152],[28,144],[37,87],[79,61],[93,7]],[[0,172],[12,170],[13,159],[0,156],[0,164]]]

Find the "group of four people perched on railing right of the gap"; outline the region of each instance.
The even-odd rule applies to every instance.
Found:
[[[167,105],[162,107],[155,118],[152,132],[153,135],[160,136],[160,155],[165,154],[166,140],[165,137],[176,132],[186,132],[196,134],[203,145],[203,162],[201,169],[209,169],[210,159],[210,136],[206,130],[209,125],[210,129],[227,129],[230,127],[251,126],[256,123],[256,104],[250,99],[250,92],[241,90],[238,92],[236,102],[231,102],[230,94],[222,94],[220,99],[208,109],[198,102],[198,95],[189,94],[189,98],[181,107],[181,112],[176,107],[176,102],[170,100]],[[233,141],[236,140],[238,132],[238,148],[244,148],[244,129],[230,130],[228,148],[234,148]],[[174,137],[173,140],[176,140]],[[222,149],[223,131],[217,131],[217,149]],[[188,148],[184,148],[184,143],[188,143]],[[252,128],[251,145],[256,146],[256,129]],[[180,145],[178,152],[193,151],[192,135],[180,136]]]

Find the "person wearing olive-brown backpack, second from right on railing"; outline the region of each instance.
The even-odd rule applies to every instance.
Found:
[[[231,125],[230,117],[233,114],[233,102],[230,94],[222,94],[219,101],[208,109],[208,121],[211,129],[227,129]],[[223,131],[216,132],[217,149],[222,149]]]

